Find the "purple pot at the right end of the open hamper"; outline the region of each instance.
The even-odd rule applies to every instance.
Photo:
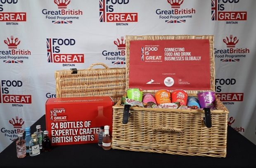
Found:
[[[199,92],[197,95],[201,108],[215,108],[215,92]]]

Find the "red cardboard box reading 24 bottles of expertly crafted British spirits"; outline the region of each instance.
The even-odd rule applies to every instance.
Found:
[[[52,145],[97,143],[101,125],[112,133],[111,97],[49,98],[45,103],[46,130]]]

